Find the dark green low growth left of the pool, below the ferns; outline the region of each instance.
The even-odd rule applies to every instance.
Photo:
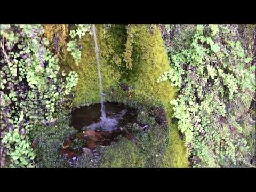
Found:
[[[74,133],[73,127],[69,127],[69,118],[70,111],[61,110],[57,112],[57,120],[53,126],[35,127],[34,137],[38,140],[35,149],[36,167],[69,167],[67,159],[61,154],[63,143]]]

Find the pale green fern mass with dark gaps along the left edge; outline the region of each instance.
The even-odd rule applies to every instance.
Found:
[[[12,166],[20,167],[20,162],[24,165],[26,159],[20,153],[30,147],[27,145],[31,140],[30,131],[36,124],[54,121],[55,111],[63,107],[78,78],[74,72],[66,79],[61,78],[58,59],[46,48],[49,42],[42,38],[41,25],[0,27],[1,148],[3,145],[6,149]],[[13,140],[10,135],[15,135],[16,140],[6,148]],[[19,142],[26,147],[23,149]],[[17,156],[22,157],[20,161]]]

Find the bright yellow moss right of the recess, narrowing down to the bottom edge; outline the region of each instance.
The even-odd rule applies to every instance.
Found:
[[[170,82],[156,83],[163,71],[169,71],[169,59],[164,47],[161,31],[156,26],[130,25],[127,30],[128,45],[125,58],[129,61],[127,82],[135,87],[135,98],[139,102],[147,100],[165,107],[169,123],[169,143],[165,150],[163,167],[188,167],[188,155],[178,128],[171,124],[172,109],[170,101],[176,95]],[[129,38],[132,38],[130,40]],[[132,49],[131,49],[132,46]],[[143,102],[142,101],[142,102]]]

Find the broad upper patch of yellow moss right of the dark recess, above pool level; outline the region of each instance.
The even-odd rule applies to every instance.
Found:
[[[127,28],[127,82],[135,87],[138,100],[142,97],[152,103],[169,103],[175,97],[175,87],[167,82],[156,82],[163,71],[170,70],[160,29],[148,25],[129,25]]]

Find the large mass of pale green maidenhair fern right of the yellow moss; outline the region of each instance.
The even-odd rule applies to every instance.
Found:
[[[190,161],[195,167],[250,166],[246,135],[253,125],[246,114],[255,65],[234,26],[197,25],[191,33],[189,46],[169,54],[172,70],[157,80],[170,80],[179,90],[171,104]]]

